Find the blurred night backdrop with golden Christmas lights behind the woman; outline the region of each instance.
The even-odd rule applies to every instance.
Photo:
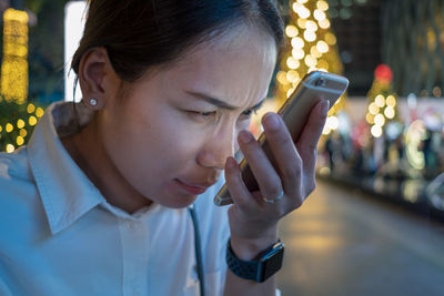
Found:
[[[319,186],[281,225],[283,295],[444,295],[444,0],[280,0],[286,49],[260,118],[313,70],[350,88],[329,113]],[[0,0],[0,151],[72,101],[84,2]],[[79,94],[77,100],[79,100]]]

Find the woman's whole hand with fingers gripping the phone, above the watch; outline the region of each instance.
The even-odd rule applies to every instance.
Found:
[[[282,119],[266,114],[264,133],[278,167],[274,169],[253,135],[246,131],[239,134],[240,149],[248,161],[260,191],[249,192],[244,185],[238,162],[229,157],[225,178],[234,204],[229,210],[231,244],[236,255],[251,259],[278,239],[278,222],[302,205],[315,188],[314,166],[317,142],[329,111],[329,102],[321,101],[312,110],[297,143],[293,140]],[[268,203],[264,197],[283,196]]]

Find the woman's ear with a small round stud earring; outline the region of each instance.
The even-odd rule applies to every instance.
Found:
[[[107,98],[113,96],[113,90],[108,85],[119,85],[120,79],[111,65],[105,48],[92,48],[82,55],[79,83],[84,103],[94,110],[104,108]],[[90,104],[91,99],[97,103]]]

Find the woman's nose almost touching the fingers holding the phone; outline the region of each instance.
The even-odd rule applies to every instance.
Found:
[[[198,163],[204,167],[223,170],[226,157],[234,155],[236,134],[234,127],[225,127],[208,136],[198,154]]]

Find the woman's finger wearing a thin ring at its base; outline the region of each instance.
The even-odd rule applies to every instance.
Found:
[[[249,131],[239,133],[239,145],[250,165],[263,196],[273,197],[282,192],[281,177],[274,170],[260,143]]]

